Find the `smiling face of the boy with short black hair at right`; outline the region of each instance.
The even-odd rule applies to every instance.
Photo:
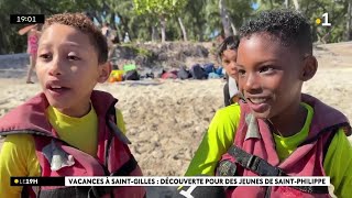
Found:
[[[297,111],[304,57],[266,34],[242,38],[238,50],[239,87],[256,118]]]

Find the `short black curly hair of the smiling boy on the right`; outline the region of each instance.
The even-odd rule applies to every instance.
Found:
[[[261,12],[240,29],[240,36],[267,34],[284,46],[294,45],[301,53],[312,54],[311,28],[305,16],[292,10],[270,10]]]

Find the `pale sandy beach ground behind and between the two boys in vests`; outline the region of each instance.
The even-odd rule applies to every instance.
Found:
[[[352,120],[352,43],[320,45],[315,55],[319,69],[304,85],[304,92]],[[0,79],[0,117],[40,92],[38,84],[23,82]],[[215,112],[223,106],[223,85],[221,79],[154,80],[151,85],[106,82],[97,89],[119,99],[130,147],[144,174],[182,176]]]

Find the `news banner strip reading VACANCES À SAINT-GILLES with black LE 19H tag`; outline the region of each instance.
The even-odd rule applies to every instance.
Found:
[[[330,186],[330,177],[11,177],[11,186]]]

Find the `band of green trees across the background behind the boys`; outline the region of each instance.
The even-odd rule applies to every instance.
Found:
[[[234,33],[258,11],[298,8],[310,20],[315,41],[331,43],[352,38],[351,0],[221,1]],[[168,41],[183,40],[186,33],[187,40],[202,42],[224,35],[219,2],[220,0],[0,0],[0,54],[23,53],[26,48],[26,36],[18,34],[24,25],[10,24],[10,14],[42,13],[48,16],[61,12],[87,12],[99,24],[109,22],[117,30],[120,40],[128,32],[132,41],[160,41],[164,31]],[[257,4],[255,9],[254,3]],[[329,14],[331,26],[315,23],[318,18],[324,20],[323,13]]]

